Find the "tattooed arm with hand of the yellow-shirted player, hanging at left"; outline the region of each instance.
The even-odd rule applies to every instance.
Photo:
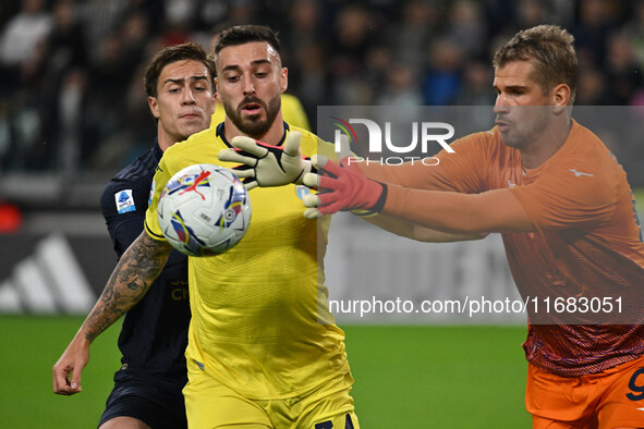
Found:
[[[81,372],[89,360],[89,345],[145,295],[159,275],[172,247],[144,231],[125,250],[98,302],[52,368],[53,393],[82,391]]]

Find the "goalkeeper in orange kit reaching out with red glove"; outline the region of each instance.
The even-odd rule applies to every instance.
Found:
[[[524,298],[578,305],[530,314],[523,346],[534,428],[641,428],[644,243],[625,172],[570,115],[572,41],[539,25],[502,46],[496,126],[453,143],[438,166],[314,161],[318,171],[304,183],[320,193],[305,197],[305,216],[378,214],[369,220],[426,241],[500,232]],[[584,298],[608,298],[612,311],[583,311]]]

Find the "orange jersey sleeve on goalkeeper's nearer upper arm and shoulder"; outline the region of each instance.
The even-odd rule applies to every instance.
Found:
[[[617,181],[590,163],[559,167],[510,188],[540,231],[600,224],[617,207]]]

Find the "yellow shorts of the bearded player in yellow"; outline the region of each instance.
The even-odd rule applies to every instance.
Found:
[[[190,359],[187,367],[189,382],[183,396],[190,429],[360,429],[349,394],[353,384],[351,373],[301,396],[259,401],[219,383]]]

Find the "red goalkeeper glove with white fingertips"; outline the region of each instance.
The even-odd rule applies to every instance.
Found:
[[[362,210],[362,214],[368,214],[382,209],[386,185],[368,179],[350,158],[337,164],[323,156],[314,156],[312,162],[317,173],[306,173],[304,184],[317,188],[318,193],[302,199],[307,207],[305,218],[315,219],[340,210]]]

